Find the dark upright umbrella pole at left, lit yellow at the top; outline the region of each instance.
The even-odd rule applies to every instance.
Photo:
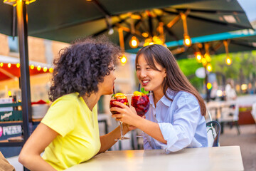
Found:
[[[31,88],[28,66],[28,30],[25,1],[17,1],[17,27],[18,46],[21,62],[21,98],[23,117],[23,139],[24,143],[30,135],[29,123],[31,123]]]

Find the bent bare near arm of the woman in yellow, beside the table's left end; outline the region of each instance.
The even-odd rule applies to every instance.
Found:
[[[18,162],[29,170],[55,170],[40,154],[57,135],[57,132],[40,123],[23,146]]]

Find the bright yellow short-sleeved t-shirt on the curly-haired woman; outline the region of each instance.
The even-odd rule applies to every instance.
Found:
[[[91,111],[78,93],[55,100],[41,123],[59,133],[43,154],[55,170],[85,162],[100,150],[97,105]]]

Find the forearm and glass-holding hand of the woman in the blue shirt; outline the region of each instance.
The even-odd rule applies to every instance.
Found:
[[[119,112],[120,114],[112,115],[112,118],[117,118],[118,121],[127,123],[128,125],[133,125],[136,128],[144,131],[144,133],[150,135],[152,138],[158,140],[159,142],[167,143],[164,140],[164,136],[161,133],[159,125],[157,123],[146,120],[139,115],[137,115],[136,110],[131,106],[124,105],[120,102],[114,102],[115,105],[119,105],[122,108],[113,107],[110,110]]]

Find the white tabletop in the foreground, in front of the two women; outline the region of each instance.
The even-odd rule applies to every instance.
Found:
[[[118,170],[244,170],[239,146],[186,148],[168,155],[163,150],[108,151],[69,171]]]

